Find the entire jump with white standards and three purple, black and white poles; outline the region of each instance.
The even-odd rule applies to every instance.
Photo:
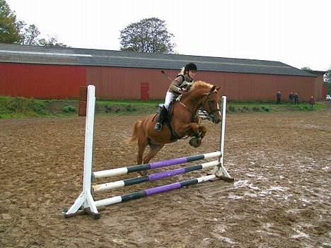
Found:
[[[64,217],[70,217],[76,214],[90,213],[94,218],[99,218],[100,214],[98,209],[100,206],[108,206],[122,201],[129,201],[132,199],[138,199],[144,196],[152,194],[158,194],[164,191],[170,191],[172,189],[179,189],[192,184],[198,184],[200,182],[207,182],[214,179],[225,179],[228,182],[233,182],[233,178],[228,174],[226,168],[223,167],[223,151],[224,151],[224,136],[225,136],[225,124],[226,124],[226,97],[222,97],[222,124],[221,124],[221,138],[220,138],[220,150],[213,153],[205,153],[200,155],[192,155],[184,158],[175,158],[171,160],[163,160],[153,162],[144,165],[132,165],[122,168],[116,168],[112,170],[102,170],[98,172],[92,172],[93,165],[93,129],[94,129],[94,116],[95,116],[95,86],[88,85],[87,94],[87,106],[86,106],[86,127],[85,127],[85,150],[84,150],[84,167],[83,167],[83,191],[76,199],[74,204],[69,208],[64,208]],[[158,172],[150,174],[144,177],[135,177],[131,179],[123,179],[116,182],[108,182],[105,184],[94,184],[94,179],[103,177],[112,177],[115,175],[125,175],[130,172],[139,172],[141,170],[152,170],[158,167],[166,167],[170,165],[178,165],[182,163],[189,163],[197,160],[204,160],[210,158],[218,158],[217,160],[202,163],[199,165],[192,165],[189,167],[182,167],[175,170],[168,170],[165,172]],[[150,189],[144,189],[141,191],[124,194],[122,196],[114,196],[109,199],[102,199],[95,201],[92,194],[98,191],[105,191],[110,189],[117,189],[132,184],[139,184],[142,182],[153,181],[161,179],[163,177],[172,177],[186,172],[194,170],[207,170],[214,168],[213,175],[207,175],[204,177],[198,177],[194,179],[188,179],[183,182],[175,182],[173,184],[166,184],[159,187],[153,187]]]

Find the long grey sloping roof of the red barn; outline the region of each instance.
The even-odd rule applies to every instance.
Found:
[[[115,66],[148,69],[180,69],[188,62],[194,62],[197,64],[199,71],[315,76],[279,61],[202,57],[182,54],[123,52],[71,47],[37,47],[1,43],[0,62]]]

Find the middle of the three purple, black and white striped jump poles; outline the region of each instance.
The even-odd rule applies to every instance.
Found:
[[[115,182],[108,182],[105,184],[97,184],[97,185],[93,185],[92,189],[93,189],[93,193],[110,190],[110,189],[117,189],[120,187],[132,185],[132,184],[140,184],[141,182],[154,181],[154,180],[161,179],[164,177],[172,177],[172,176],[180,175],[180,174],[183,174],[186,172],[192,172],[194,170],[207,170],[211,167],[214,168],[217,165],[219,165],[219,161],[215,160],[215,161],[203,163],[200,165],[192,165],[189,167],[178,168],[175,170],[158,172],[158,173],[154,173],[154,174],[147,175],[144,177],[134,177],[134,178],[124,179],[124,180],[115,181]]]

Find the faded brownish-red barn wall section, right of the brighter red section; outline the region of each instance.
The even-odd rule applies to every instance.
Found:
[[[170,78],[178,71],[164,70]],[[163,99],[170,80],[158,69],[125,69],[90,66],[86,71],[88,83],[96,86],[99,98],[141,99],[141,83],[149,83],[150,99]],[[280,90],[283,100],[291,91],[298,92],[301,100],[309,100],[315,93],[315,77],[281,76],[253,73],[226,73],[199,71],[194,81],[203,80],[222,86],[222,94],[229,100],[275,100]]]

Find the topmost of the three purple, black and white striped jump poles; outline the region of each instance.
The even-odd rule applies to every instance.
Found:
[[[144,165],[132,165],[128,167],[121,167],[111,170],[100,170],[98,172],[93,172],[93,179],[103,178],[103,177],[112,177],[117,175],[125,175],[129,172],[139,172],[141,170],[150,170],[160,167],[165,167],[169,165],[178,165],[182,163],[189,163],[197,160],[209,159],[209,158],[219,158],[221,156],[221,151],[216,151],[214,153],[205,153],[200,155],[192,155],[190,157],[183,158],[174,158],[170,160],[162,160],[158,162],[153,162]]]

